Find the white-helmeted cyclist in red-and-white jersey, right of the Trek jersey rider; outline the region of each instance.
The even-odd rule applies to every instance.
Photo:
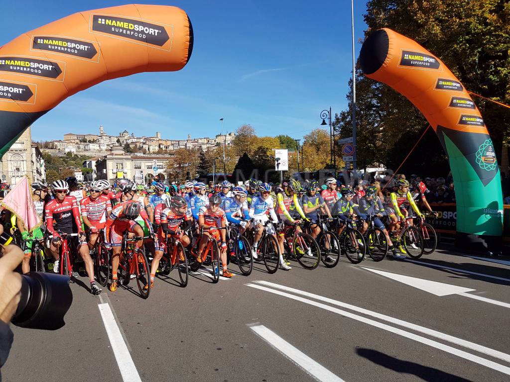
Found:
[[[82,219],[89,234],[89,250],[94,248],[99,230],[105,228],[106,219],[112,211],[112,203],[103,194],[103,186],[94,181],[90,185],[90,196],[80,202]]]

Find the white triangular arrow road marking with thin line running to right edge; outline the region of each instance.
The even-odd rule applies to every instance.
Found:
[[[381,275],[387,277],[389,279],[398,281],[400,283],[412,286],[414,288],[418,288],[424,290],[425,292],[435,294],[436,296],[448,296],[450,294],[457,294],[460,296],[465,296],[469,298],[476,299],[478,301],[483,301],[484,303],[489,303],[493,305],[499,305],[500,307],[510,308],[510,304],[503,303],[501,301],[493,300],[491,298],[482,297],[476,294],[469,294],[467,292],[475,291],[476,289],[459,287],[451,284],[438,283],[437,281],[430,281],[425,279],[418,279],[417,277],[404,276],[396,273],[386,272],[378,269],[366,268],[364,266],[360,267],[371,272],[376,273],[377,275]]]

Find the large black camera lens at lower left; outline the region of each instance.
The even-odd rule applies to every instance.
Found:
[[[57,330],[72,304],[69,277],[46,272],[21,276],[21,299],[11,322],[22,328]]]

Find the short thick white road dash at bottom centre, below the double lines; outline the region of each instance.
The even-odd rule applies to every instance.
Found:
[[[330,372],[321,364],[312,360],[307,354],[292,346],[282,337],[266,328],[264,325],[252,325],[250,329],[257,333],[263,340],[289,358],[297,366],[321,382],[345,382],[337,375]]]

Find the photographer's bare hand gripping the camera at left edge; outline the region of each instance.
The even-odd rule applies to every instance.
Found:
[[[4,228],[0,225],[0,234]],[[13,270],[23,260],[23,251],[17,245],[11,244],[3,247],[3,256],[0,258],[0,319],[6,323],[11,321],[19,303],[21,290],[21,275]]]

